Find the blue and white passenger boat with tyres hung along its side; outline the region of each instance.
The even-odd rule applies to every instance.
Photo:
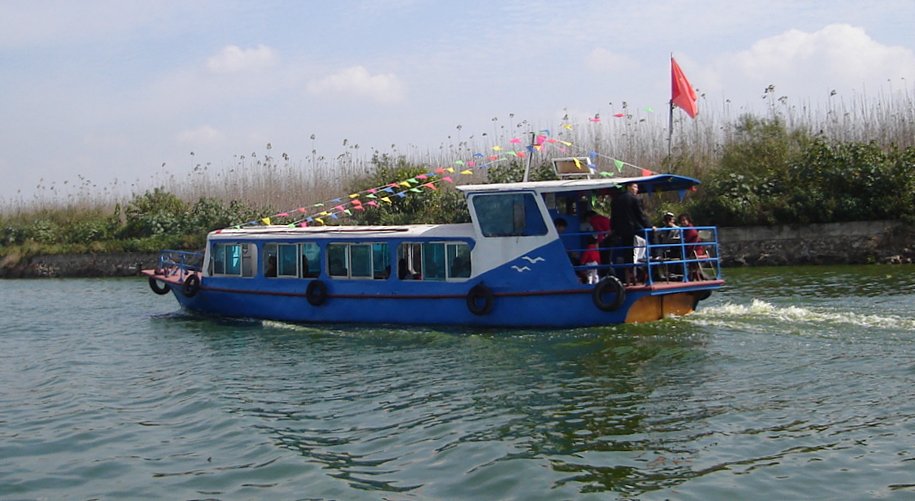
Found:
[[[714,226],[695,228],[698,243],[647,228],[643,244],[610,249],[633,253],[630,263],[570,259],[595,233],[582,226],[592,201],[631,183],[683,194],[699,181],[652,173],[456,185],[469,223],[227,228],[210,232],[203,252],[162,251],[142,273],[191,312],[294,323],[572,328],[689,314],[724,284]],[[560,234],[559,219],[580,231]],[[638,283],[620,280],[627,267]],[[591,270],[596,283],[584,278]]]

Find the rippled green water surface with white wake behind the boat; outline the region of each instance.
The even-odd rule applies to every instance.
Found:
[[[544,333],[0,281],[0,499],[913,499],[913,272],[729,270],[692,316]]]

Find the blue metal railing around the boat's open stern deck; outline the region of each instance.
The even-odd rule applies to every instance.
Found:
[[[639,235],[642,242],[633,245],[611,246],[612,237],[600,232],[566,232],[563,241],[584,242],[589,237],[599,239],[596,250],[601,255],[599,264],[573,263],[575,272],[583,280],[591,270],[599,275],[615,274],[623,276],[623,270],[635,270],[638,281],[651,285],[657,282],[698,282],[721,278],[721,262],[718,253],[718,228],[715,226],[695,226],[700,238],[697,242],[686,242],[683,239],[687,228],[646,228]],[[587,250],[586,245],[568,245],[566,251],[572,256],[581,256]],[[632,257],[627,254],[631,253]],[[622,257],[622,258],[621,258]]]

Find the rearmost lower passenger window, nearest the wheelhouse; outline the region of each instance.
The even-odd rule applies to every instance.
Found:
[[[397,249],[401,280],[444,281],[470,277],[470,246],[465,242],[403,243]]]

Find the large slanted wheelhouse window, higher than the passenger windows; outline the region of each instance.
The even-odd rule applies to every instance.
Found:
[[[540,207],[531,193],[475,195],[473,208],[484,237],[546,235]]]

